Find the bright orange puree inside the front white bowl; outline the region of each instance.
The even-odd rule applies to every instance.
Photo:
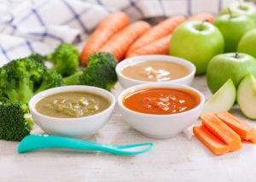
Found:
[[[132,111],[165,115],[193,109],[200,97],[182,88],[145,88],[126,95],[123,103]]]

